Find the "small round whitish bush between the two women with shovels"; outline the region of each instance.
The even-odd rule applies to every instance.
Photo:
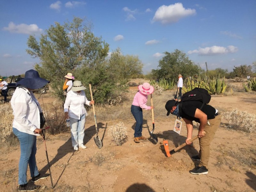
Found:
[[[127,128],[123,122],[119,122],[116,125],[112,125],[108,130],[108,135],[111,136],[111,140],[117,145],[123,145],[127,140]]]

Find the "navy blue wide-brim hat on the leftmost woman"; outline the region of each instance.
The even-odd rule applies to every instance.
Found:
[[[50,81],[43,79],[39,76],[39,73],[33,69],[26,71],[25,78],[16,83],[16,86],[23,85],[29,89],[39,89]]]

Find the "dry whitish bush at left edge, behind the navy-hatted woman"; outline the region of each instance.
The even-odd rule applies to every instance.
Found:
[[[1,123],[0,123],[0,145],[15,146],[19,144],[18,138],[12,132],[12,107],[11,103],[1,103],[0,105]]]

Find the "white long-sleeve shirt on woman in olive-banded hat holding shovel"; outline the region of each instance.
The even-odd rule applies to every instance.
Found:
[[[90,101],[87,100],[85,92],[80,93],[69,91],[64,103],[64,112],[68,112],[68,116],[74,119],[80,119],[80,115],[87,116],[87,111],[84,104],[90,106]],[[69,109],[68,109],[69,107]]]

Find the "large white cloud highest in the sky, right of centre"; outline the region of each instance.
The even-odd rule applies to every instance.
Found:
[[[153,22],[160,21],[162,24],[174,23],[183,17],[195,14],[195,9],[185,9],[182,3],[175,3],[169,6],[162,5],[156,10]]]

